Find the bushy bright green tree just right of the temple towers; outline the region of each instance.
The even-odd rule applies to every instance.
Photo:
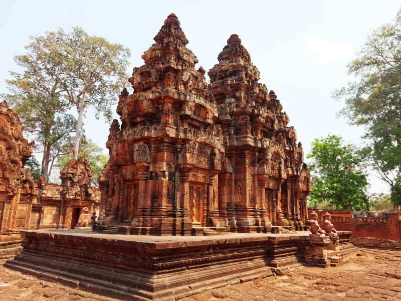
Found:
[[[364,162],[353,145],[344,145],[340,136],[327,135],[312,142],[309,169],[318,176],[310,202],[329,202],[337,209],[369,210],[369,186]]]

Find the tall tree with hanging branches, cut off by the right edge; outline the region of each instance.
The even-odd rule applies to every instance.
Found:
[[[381,25],[366,38],[348,65],[358,81],[335,90],[345,100],[338,116],[365,128],[361,156],[391,190],[391,202],[401,204],[401,9],[393,23]]]

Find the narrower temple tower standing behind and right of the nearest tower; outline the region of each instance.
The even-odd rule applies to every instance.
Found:
[[[224,132],[219,174],[220,216],[231,231],[266,232],[272,225],[301,230],[307,218],[309,173],[289,118],[238,35],[232,35],[209,71]]]

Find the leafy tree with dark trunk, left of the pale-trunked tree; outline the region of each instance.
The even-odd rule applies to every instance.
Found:
[[[2,96],[20,116],[25,131],[39,142],[35,149],[43,152],[41,170],[47,181],[57,158],[69,151],[65,146],[69,133],[75,132],[76,119],[67,113],[71,105],[63,95],[57,66],[47,64],[35,49],[15,61],[25,72],[10,72],[14,77],[6,80],[10,94]]]

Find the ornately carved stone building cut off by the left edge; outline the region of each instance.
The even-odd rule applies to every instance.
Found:
[[[20,229],[28,229],[38,189],[29,170],[34,142],[22,135],[20,118],[6,101],[0,103],[0,258],[15,255]]]

